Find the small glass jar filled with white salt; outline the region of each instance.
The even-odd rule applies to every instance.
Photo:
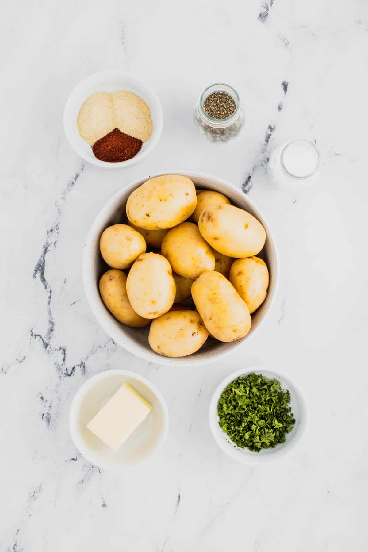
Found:
[[[291,140],[271,152],[268,173],[274,184],[312,184],[319,178],[321,155],[310,140]]]

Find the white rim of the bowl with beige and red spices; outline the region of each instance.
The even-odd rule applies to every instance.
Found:
[[[132,157],[131,159],[128,159],[127,161],[121,161],[119,163],[109,163],[107,161],[100,161],[96,157],[92,157],[92,156],[87,157],[84,151],[82,150],[82,148],[79,146],[78,142],[74,140],[73,134],[72,132],[70,132],[70,129],[68,127],[68,121],[70,120],[69,111],[71,108],[71,104],[73,102],[74,95],[78,94],[79,90],[84,86],[86,86],[86,84],[88,84],[89,81],[93,82],[97,77],[100,77],[101,79],[103,79],[106,77],[114,77],[114,76],[125,78],[126,80],[129,80],[130,82],[135,84],[137,87],[142,88],[142,90],[145,91],[147,95],[151,97],[154,103],[154,113],[157,118],[156,124],[154,126],[154,131],[152,133],[150,140],[148,141],[147,147],[143,151],[138,152],[137,155]],[[76,124],[77,124],[77,121],[76,121]],[[97,167],[104,168],[104,169],[117,169],[117,168],[131,167],[133,164],[144,159],[148,155],[148,153],[150,153],[153,150],[153,148],[157,145],[157,142],[161,137],[162,127],[163,127],[162,105],[157,93],[154,91],[151,85],[148,84],[142,78],[137,77],[132,73],[127,73],[126,71],[119,71],[117,69],[99,71],[97,73],[93,73],[92,75],[89,75],[88,77],[84,78],[82,81],[79,81],[78,84],[76,84],[76,86],[74,86],[74,88],[72,89],[71,93],[68,96],[68,99],[66,100],[66,104],[63,112],[63,126],[64,126],[65,136],[67,137],[67,140],[70,146],[73,148],[73,150],[76,153],[78,153],[79,156],[81,156],[84,159],[84,161],[87,161],[87,163],[91,163]]]

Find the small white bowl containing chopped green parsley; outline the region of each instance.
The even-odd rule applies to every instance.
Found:
[[[247,376],[252,373],[262,374],[268,379],[276,379],[280,381],[282,389],[288,389],[290,391],[291,412],[294,414],[295,417],[294,427],[289,433],[286,433],[285,435],[285,443],[279,443],[275,446],[275,448],[261,449],[260,452],[252,452],[252,450],[249,450],[247,448],[239,449],[239,447],[237,447],[237,445],[230,440],[230,437],[227,435],[227,433],[224,433],[221,427],[218,425],[220,418],[218,417],[217,406],[222,391],[234,379],[238,378],[239,376],[247,378]],[[309,408],[304,392],[294,381],[290,380],[289,376],[285,376],[280,373],[276,374],[267,368],[259,369],[259,367],[257,367],[253,370],[237,370],[233,374],[227,376],[227,378],[225,378],[223,381],[221,381],[220,385],[218,385],[216,391],[214,392],[214,395],[212,396],[210,402],[209,420],[212,435],[214,436],[216,443],[223,450],[223,452],[225,452],[233,460],[241,462],[242,464],[264,464],[271,460],[277,460],[278,458],[284,457],[285,454],[289,453],[292,449],[296,447],[308,426]]]

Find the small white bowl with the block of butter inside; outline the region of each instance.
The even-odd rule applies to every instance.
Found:
[[[87,424],[127,381],[152,409],[121,447],[114,452],[87,428]],[[139,464],[162,447],[169,428],[163,396],[150,381],[127,370],[107,370],[90,378],[77,391],[69,412],[74,445],[89,462],[104,470],[120,471]]]

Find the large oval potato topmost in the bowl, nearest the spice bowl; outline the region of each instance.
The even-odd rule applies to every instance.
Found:
[[[172,228],[193,213],[197,197],[193,182],[179,174],[151,178],[132,192],[126,214],[134,226],[145,230]]]

